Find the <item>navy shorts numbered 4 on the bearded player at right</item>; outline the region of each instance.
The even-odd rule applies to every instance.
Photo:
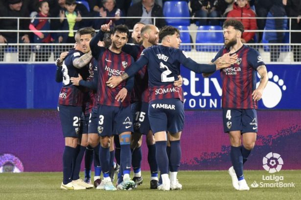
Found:
[[[223,124],[225,133],[229,131],[257,133],[257,112],[255,109],[223,108]]]

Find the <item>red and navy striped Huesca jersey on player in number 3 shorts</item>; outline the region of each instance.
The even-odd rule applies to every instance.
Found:
[[[122,75],[125,69],[129,68],[132,62],[134,62],[133,57],[122,51],[120,54],[116,54],[104,47],[99,47],[96,54],[98,54],[97,103],[118,107],[129,106],[131,103],[130,91],[128,91],[123,102],[115,100],[116,95],[125,87],[126,82],[122,81],[116,88],[112,89],[106,85],[106,81],[112,76]],[[95,54],[93,56],[95,58]]]

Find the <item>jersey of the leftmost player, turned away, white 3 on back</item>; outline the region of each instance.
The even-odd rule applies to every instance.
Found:
[[[83,98],[86,89],[82,86],[72,85],[70,78],[78,77],[78,74],[81,74],[83,79],[87,79],[88,68],[83,67],[77,69],[73,66],[73,60],[82,56],[81,51],[72,49],[69,51],[62,65],[63,73],[63,86],[59,95],[59,104],[60,105],[72,105],[72,106],[82,106]]]

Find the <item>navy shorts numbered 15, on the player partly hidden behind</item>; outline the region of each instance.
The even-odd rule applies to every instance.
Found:
[[[131,104],[132,114],[134,116],[134,131],[147,135],[150,130],[148,120],[148,103],[137,101]]]

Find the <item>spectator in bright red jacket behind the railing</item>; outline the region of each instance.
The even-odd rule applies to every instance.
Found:
[[[257,30],[255,12],[250,8],[248,0],[237,0],[233,4],[233,10],[228,13],[227,18],[235,18],[237,20],[240,20],[244,25],[245,30]],[[255,32],[243,32],[241,42],[254,43],[254,35]]]

